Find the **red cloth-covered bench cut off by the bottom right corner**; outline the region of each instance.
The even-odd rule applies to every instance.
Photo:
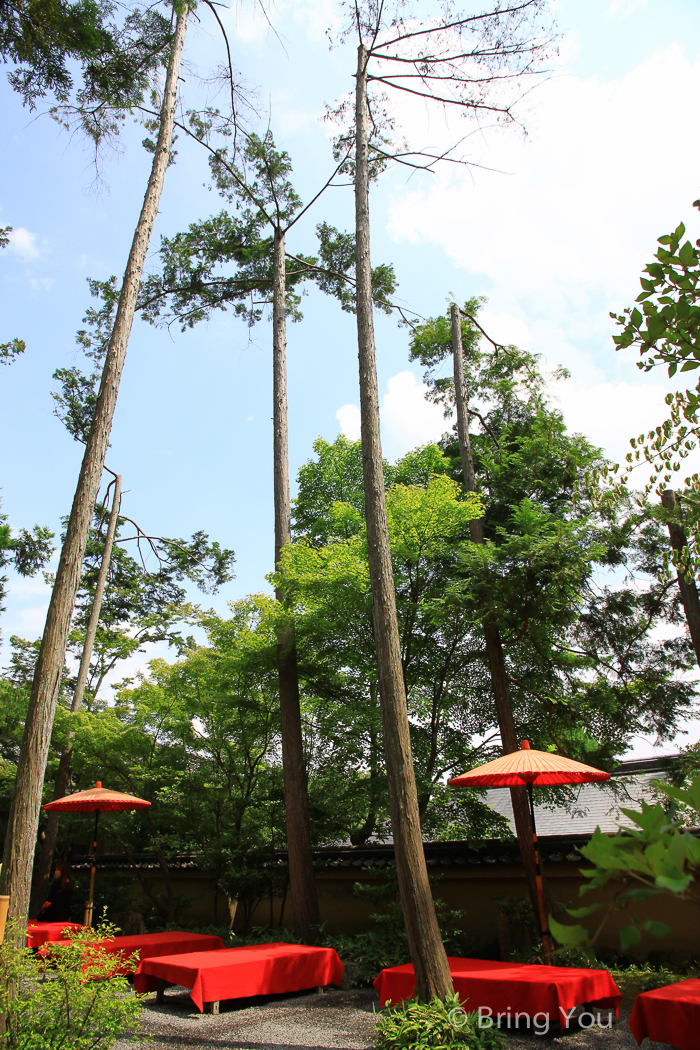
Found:
[[[629,1021],[641,1045],[645,1035],[678,1050],[700,1050],[700,981],[679,981],[637,995]]]

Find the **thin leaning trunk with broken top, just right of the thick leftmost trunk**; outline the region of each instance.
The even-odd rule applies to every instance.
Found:
[[[112,545],[114,543],[114,532],[116,531],[116,522],[119,521],[121,502],[122,475],[118,474],[114,477],[112,509],[109,514],[109,525],[107,526],[105,547],[102,551],[102,562],[100,563],[100,572],[98,574],[98,582],[94,588],[94,597],[92,598],[90,618],[85,633],[85,642],[83,643],[83,653],[81,655],[80,669],[78,671],[78,681],[76,682],[76,691],[73,693],[72,704],[70,705],[71,714],[76,714],[77,711],[80,711],[83,702],[87,673],[90,667],[90,660],[92,659],[92,650],[94,648],[94,637],[98,632],[98,624],[100,623],[100,612],[102,610],[102,600],[104,597],[105,585],[107,583],[107,573],[109,572],[109,563],[112,556]],[[56,778],[54,780],[54,801],[59,798],[63,798],[68,790],[70,763],[72,760],[72,738],[73,733],[72,731],[69,731],[68,742],[63,750],[61,760],[59,761],[59,768],[56,771]],[[36,919],[38,917],[44,901],[48,896],[48,887],[51,881],[51,868],[54,866],[54,854],[56,852],[56,840],[59,834],[60,816],[61,814],[58,811],[51,810],[46,821],[44,842],[41,849],[41,858],[39,860],[39,864],[37,865],[37,872],[34,880],[34,890],[31,894],[31,906],[29,907],[29,916],[31,919]]]

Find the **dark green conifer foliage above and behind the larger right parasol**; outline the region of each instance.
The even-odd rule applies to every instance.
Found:
[[[472,644],[486,618],[495,624],[522,735],[610,766],[633,733],[654,726],[665,736],[691,710],[695,690],[682,677],[695,659],[688,642],[660,639],[652,627],[682,623],[677,592],[654,579],[669,540],[659,523],[625,521],[621,506],[606,512],[590,489],[584,497],[585,479],[602,469],[600,450],[567,432],[534,355],[484,349],[482,302],[465,303],[462,329],[486,542],[460,546],[433,618],[459,609]],[[446,317],[417,328],[412,359],[447,410],[452,380],[439,371],[450,355]],[[461,481],[457,437],[441,446]],[[607,570],[617,566],[625,573],[612,579]]]

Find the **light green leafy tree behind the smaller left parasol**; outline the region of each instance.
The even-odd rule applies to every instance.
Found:
[[[234,605],[230,621],[192,611],[209,647],[185,643],[181,660],[153,660],[113,705],[70,716],[76,780],[101,777],[153,802],[111,815],[105,831],[129,852],[155,849],[164,874],[170,858],[194,853],[222,877],[246,852],[284,844],[274,608],[259,596]],[[66,815],[61,834],[70,841],[79,826]],[[136,875],[160,921],[174,921],[174,898]]]

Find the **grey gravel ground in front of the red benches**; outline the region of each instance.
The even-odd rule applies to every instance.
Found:
[[[220,1013],[199,1013],[185,988],[169,988],[165,1003],[155,996],[146,1001],[136,1040],[149,1040],[150,1050],[372,1050],[375,1045],[373,990],[326,991],[323,994],[266,995],[255,1000],[221,1003]],[[612,1029],[591,1028],[564,1035],[509,1033],[509,1050],[534,1050],[545,1044],[550,1050],[636,1050],[627,1018],[629,1010]],[[133,1050],[133,1042],[121,1040],[115,1050]],[[671,1050],[664,1043],[645,1040],[642,1050]]]

